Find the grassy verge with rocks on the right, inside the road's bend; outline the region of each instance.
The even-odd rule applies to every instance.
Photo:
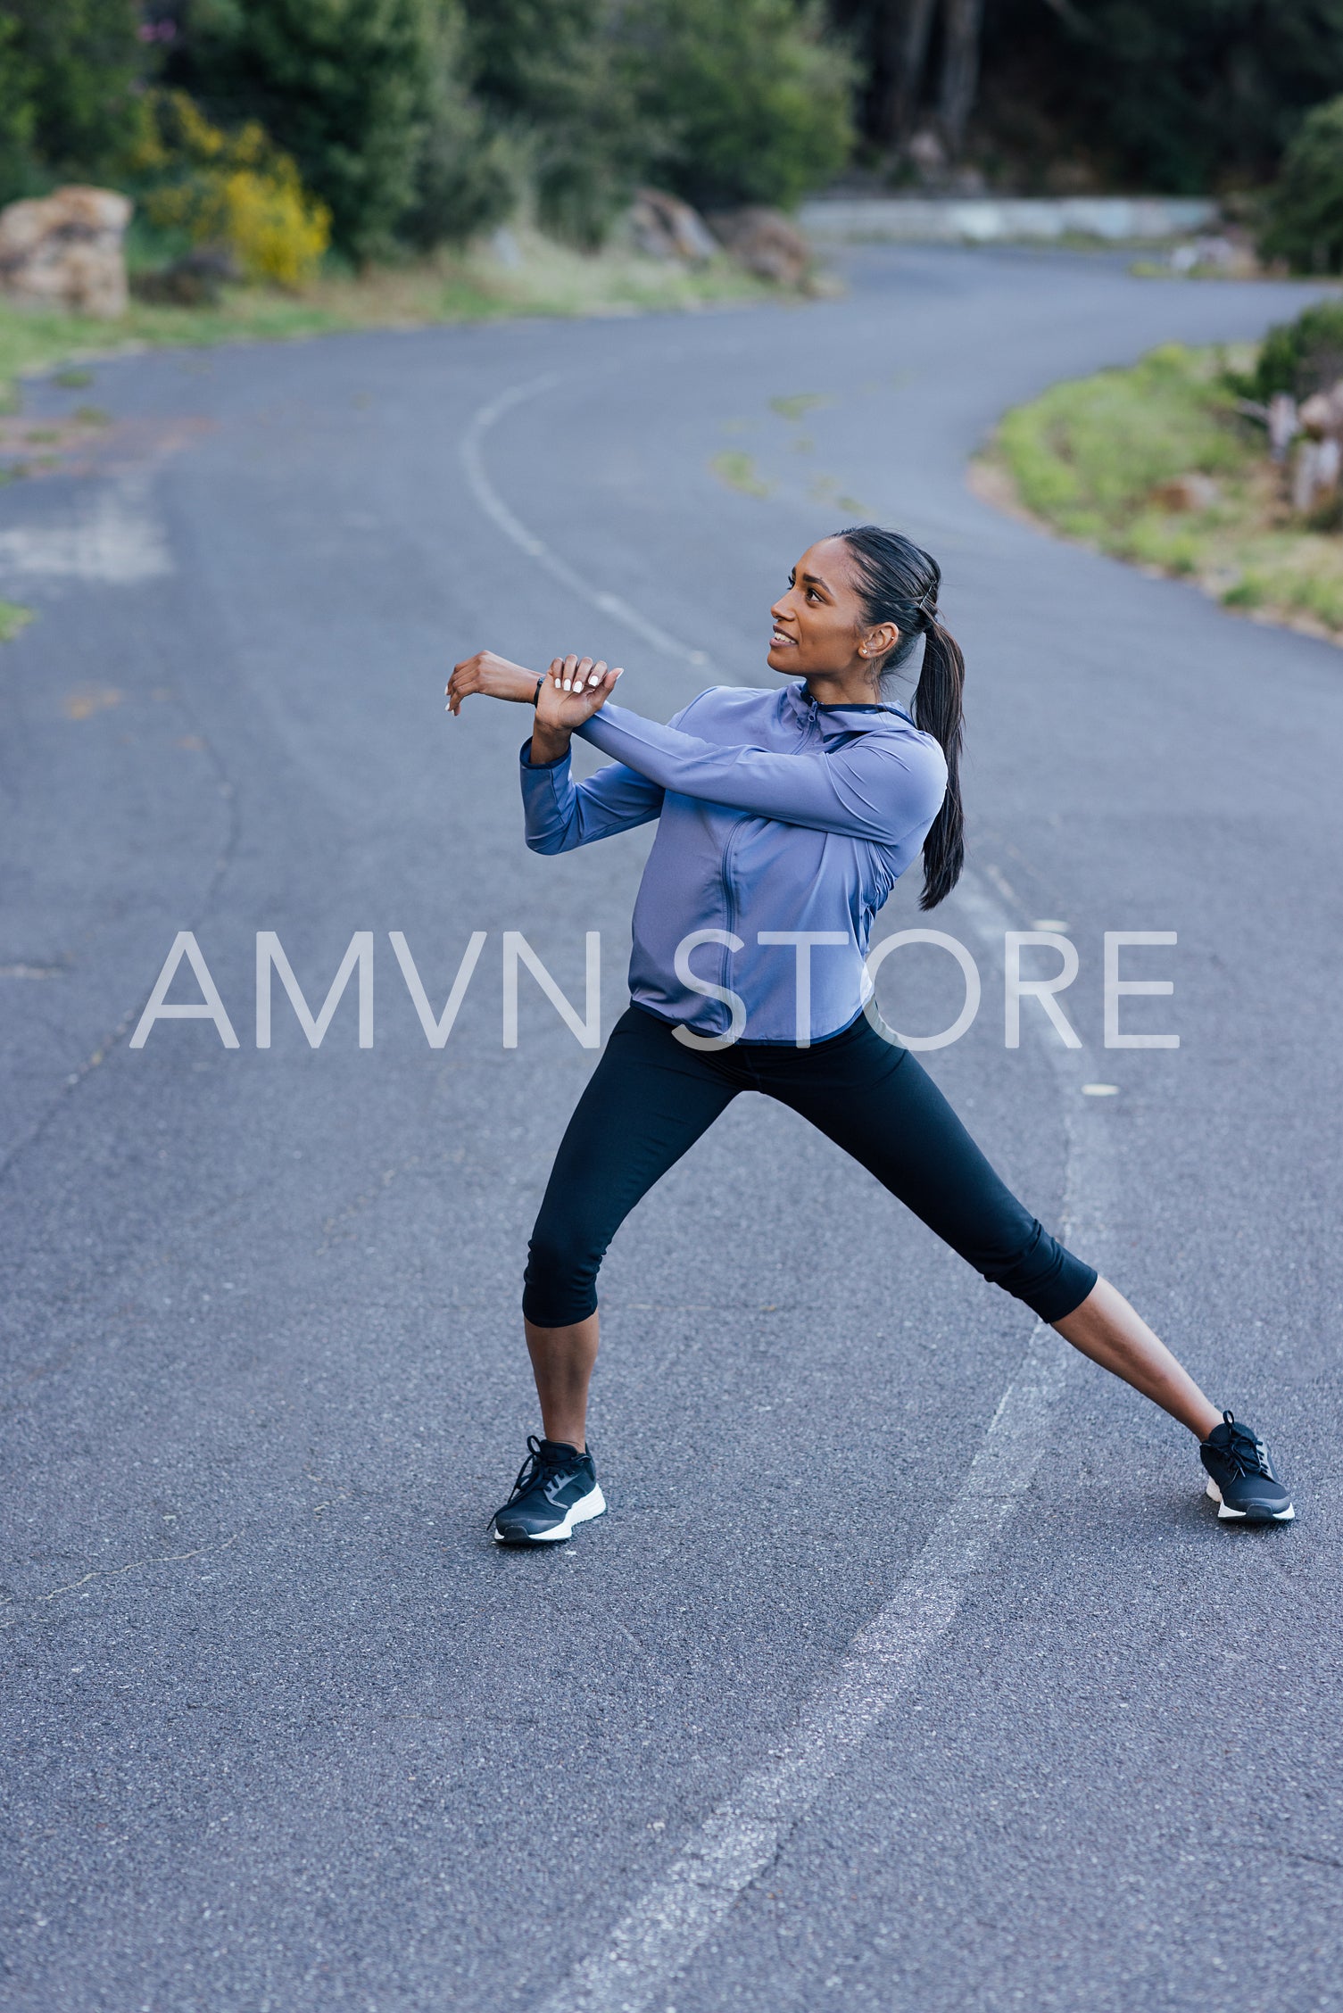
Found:
[[[1001,421],[975,489],[1226,608],[1343,642],[1343,535],[1293,515],[1230,368],[1252,348],[1166,344],[1126,370],[1053,384]],[[1202,483],[1188,481],[1204,477]]]

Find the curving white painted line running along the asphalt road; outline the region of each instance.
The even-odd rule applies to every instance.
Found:
[[[481,507],[509,539],[546,566],[552,578],[594,600],[594,590],[548,554],[495,497],[479,457],[479,443],[501,413],[556,382],[554,374],[538,378],[483,407],[463,443],[463,463]],[[1003,876],[993,868],[987,872],[1001,894],[1011,896]],[[1013,928],[1007,910],[975,874],[962,880],[956,902],[983,948],[1001,958],[1003,932]],[[1077,1087],[1085,1049],[1067,1051],[1045,1039],[1045,1055],[1065,1091],[1063,1236],[1075,1242],[1081,1232],[1081,1242],[1093,1250],[1111,1194],[1109,1141],[1095,1117],[1081,1121],[1081,1107],[1067,1095]],[[739,1790],[717,1806],[670,1868],[608,1930],[604,1947],[582,1959],[540,2003],[538,2013],[644,2013],[715,1934],[737,1898],[773,1864],[789,1832],[890,1713],[924,1657],[950,1629],[968,1580],[985,1564],[1031,1486],[1049,1441],[1055,1403],[1075,1361],[1051,1327],[1041,1323],[1033,1331],[1021,1369],[999,1401],[958,1496],[898,1590],[858,1633],[840,1669],[817,1687],[787,1745],[751,1769]]]

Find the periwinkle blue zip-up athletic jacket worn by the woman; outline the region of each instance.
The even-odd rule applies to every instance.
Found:
[[[805,1045],[846,1029],[872,990],[872,918],[946,791],[932,735],[892,707],[817,707],[803,682],[719,684],[668,727],[608,701],[578,733],[614,755],[586,783],[568,755],[534,767],[524,743],[528,845],[566,854],[658,819],[634,1002],[701,1037]],[[769,942],[779,932],[830,940]]]

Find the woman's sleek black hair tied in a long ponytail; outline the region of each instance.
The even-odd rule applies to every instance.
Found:
[[[964,811],[960,809],[960,737],[964,658],[960,644],[936,618],[942,568],[900,531],[884,531],[876,523],[860,523],[836,531],[854,560],[864,620],[894,622],[900,630],[896,648],[882,660],[878,676],[886,680],[900,670],[924,638],[924,660],[910,701],[910,717],[946,757],[946,795],[924,839],[924,892],[920,908],[936,908],[960,880],[964,866]]]

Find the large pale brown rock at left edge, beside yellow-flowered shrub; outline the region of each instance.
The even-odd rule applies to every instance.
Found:
[[[125,227],[135,205],[115,189],[56,189],[0,209],[0,286],[115,318],[127,306]]]

